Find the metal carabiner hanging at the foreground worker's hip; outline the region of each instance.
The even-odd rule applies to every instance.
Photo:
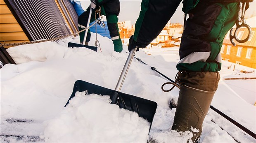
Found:
[[[236,29],[235,29],[234,35],[232,35],[233,29],[232,28],[230,29],[230,35],[229,35],[230,42],[234,46],[236,46],[236,44],[235,44],[235,42],[233,42],[233,39],[235,39],[239,43],[244,43],[244,42],[247,42],[248,39],[251,36],[251,27],[248,24],[246,24],[245,19],[244,19],[245,6],[246,6],[246,2],[245,3],[240,2],[239,12],[238,12],[238,19],[237,19],[237,22],[236,22]],[[242,24],[239,24],[241,22],[242,22]],[[248,33],[248,36],[245,39],[240,40],[240,39],[237,38],[237,31],[238,31],[239,28],[242,28],[242,27],[247,28],[249,33]]]

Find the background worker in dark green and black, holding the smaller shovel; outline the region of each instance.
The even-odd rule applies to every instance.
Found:
[[[78,28],[79,31],[86,28],[90,9],[92,9],[92,15],[90,18],[90,23],[95,21],[95,11],[101,7],[101,15],[105,15],[107,18],[107,26],[109,29],[109,35],[111,40],[114,43],[114,51],[121,52],[123,51],[122,40],[119,35],[119,28],[117,25],[118,15],[120,12],[120,2],[119,0],[91,0],[90,6],[86,9],[83,14],[78,17]],[[99,15],[96,15],[96,18],[99,18]],[[85,31],[79,33],[80,42],[83,43],[83,39],[85,36]],[[90,41],[90,29],[88,30],[87,37],[85,40],[85,45],[88,45]]]

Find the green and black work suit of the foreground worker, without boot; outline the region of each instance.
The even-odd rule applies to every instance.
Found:
[[[142,0],[135,24],[133,45],[145,48],[173,16],[182,0]],[[223,39],[238,19],[241,0],[184,0],[183,12],[189,13],[180,44],[179,71],[221,69]],[[242,0],[251,2],[252,0]]]

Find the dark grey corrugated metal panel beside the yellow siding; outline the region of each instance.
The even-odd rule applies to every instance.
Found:
[[[71,34],[54,0],[4,0],[30,41]]]

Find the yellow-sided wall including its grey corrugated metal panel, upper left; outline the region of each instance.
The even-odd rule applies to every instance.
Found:
[[[72,3],[67,0],[0,0],[0,43],[74,34],[78,31],[77,18]]]

